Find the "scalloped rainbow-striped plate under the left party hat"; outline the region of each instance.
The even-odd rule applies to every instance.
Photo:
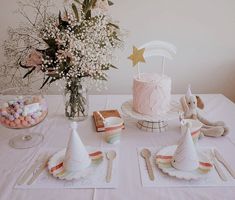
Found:
[[[87,177],[88,175],[94,173],[98,165],[103,161],[103,153],[101,151],[89,151],[89,156],[91,158],[91,165],[81,171],[67,172],[63,167],[63,160],[65,156],[66,149],[62,149],[55,153],[48,161],[48,170],[55,178],[61,180],[73,180]]]

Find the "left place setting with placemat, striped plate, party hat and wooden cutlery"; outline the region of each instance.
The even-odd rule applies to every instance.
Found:
[[[18,177],[15,188],[116,188],[118,149],[84,146],[77,124],[65,149],[39,150]]]

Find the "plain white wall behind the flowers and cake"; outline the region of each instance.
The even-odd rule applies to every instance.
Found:
[[[56,0],[57,2],[62,0]],[[235,101],[235,1],[234,0],[113,0],[111,13],[129,30],[126,49],[119,54],[119,70],[110,72],[109,89],[102,93],[131,93],[136,68],[127,59],[132,45],[165,40],[178,53],[167,62],[173,93],[183,93],[191,83],[195,93],[223,93]],[[1,0],[0,40],[8,25],[16,24],[16,0]],[[2,60],[2,54],[0,55]],[[157,58],[142,70],[160,72]],[[94,92],[94,91],[93,91]]]

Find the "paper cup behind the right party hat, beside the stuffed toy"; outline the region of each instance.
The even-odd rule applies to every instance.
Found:
[[[181,133],[185,134],[187,131],[186,124],[191,123],[192,127],[190,128],[191,136],[193,138],[193,142],[196,143],[198,141],[198,138],[200,137],[200,129],[202,128],[202,123],[195,119],[182,119],[180,121],[181,123]]]

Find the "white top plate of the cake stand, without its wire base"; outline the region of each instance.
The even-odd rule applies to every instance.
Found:
[[[172,100],[170,103],[169,111],[156,116],[144,115],[133,110],[133,101],[129,100],[122,104],[122,112],[129,117],[137,120],[158,122],[158,121],[168,121],[176,119],[179,116],[179,112],[182,112],[182,108],[178,101]]]

